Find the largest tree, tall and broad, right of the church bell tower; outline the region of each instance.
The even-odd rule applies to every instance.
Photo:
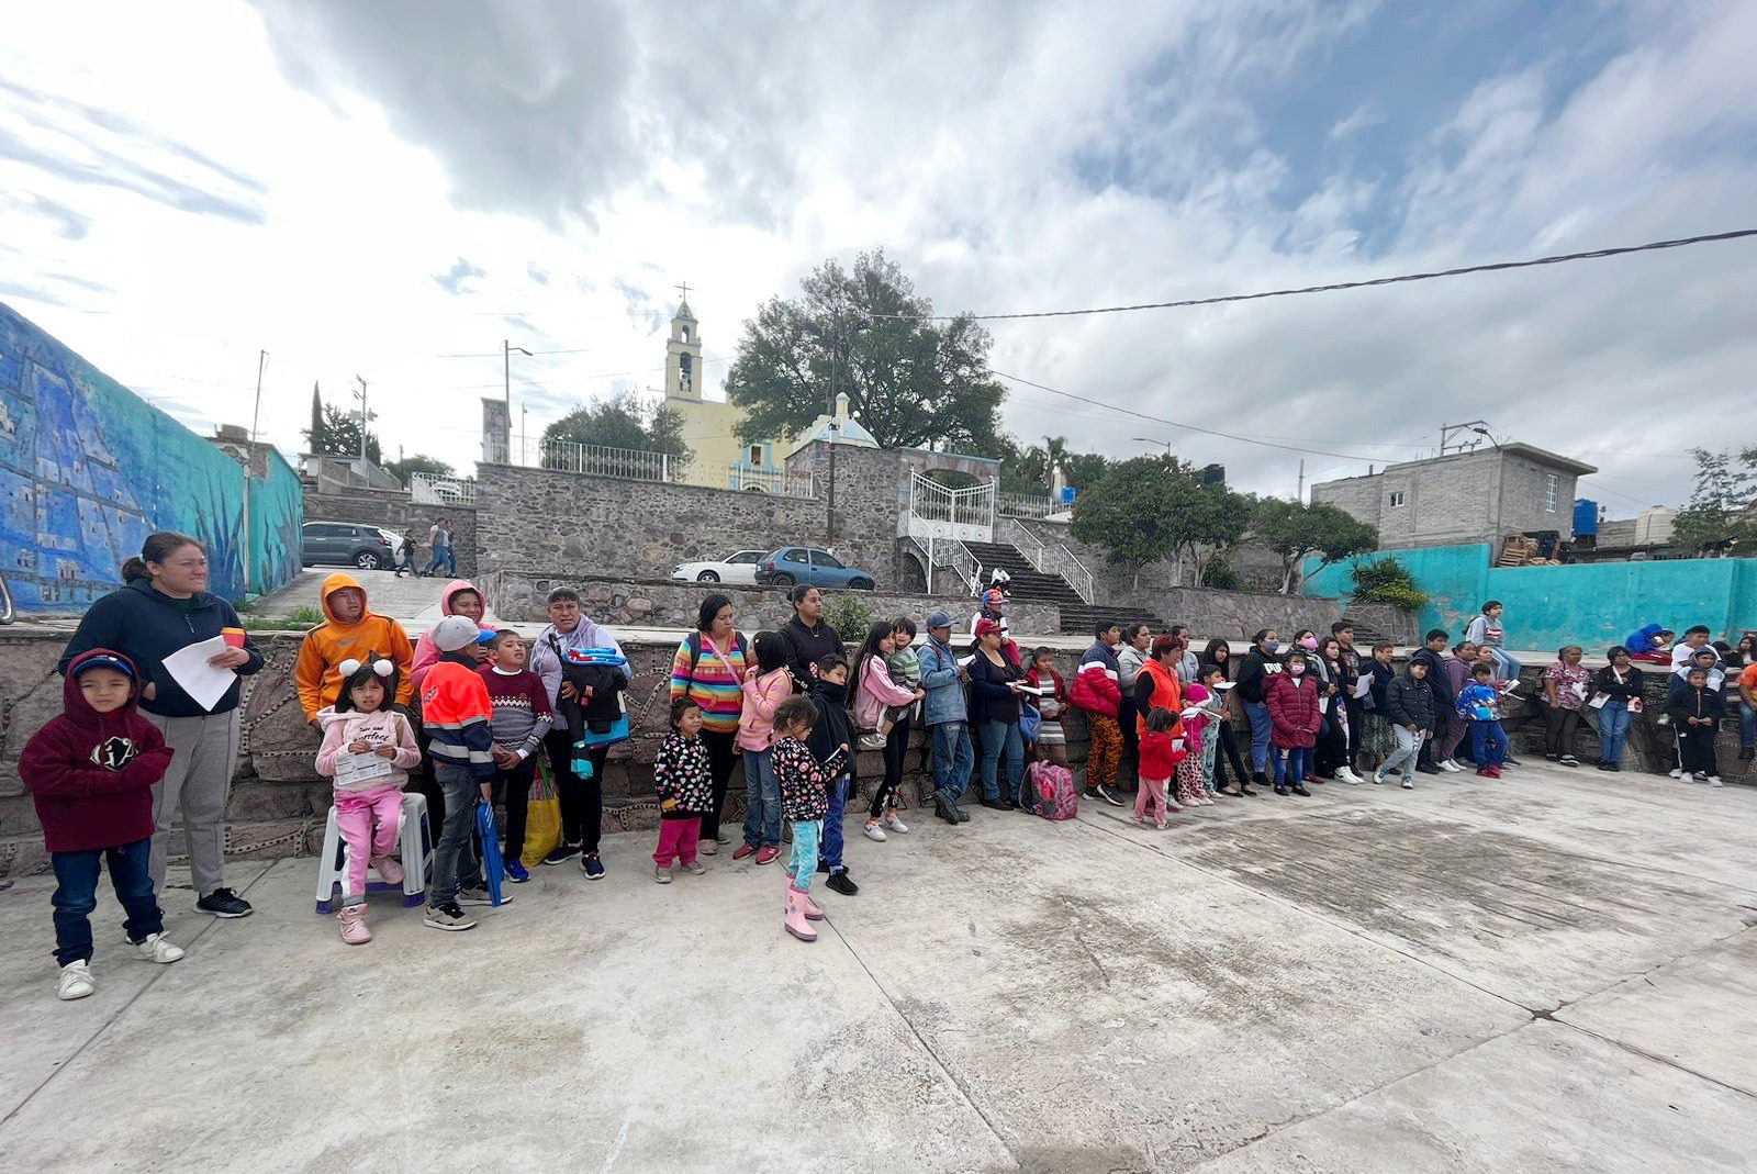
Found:
[[[745,418],[738,438],[798,436],[836,392],[882,448],[982,452],[1005,390],[989,374],[989,336],[961,315],[933,322],[933,302],[884,251],[854,269],[828,260],[745,323],[726,394]]]

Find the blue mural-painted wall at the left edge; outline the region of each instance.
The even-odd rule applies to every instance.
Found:
[[[260,489],[258,489],[260,487]],[[304,490],[285,460],[244,469],[0,304],[0,575],[23,612],[77,612],[119,585],[156,529],[207,547],[209,589],[271,591],[299,573]]]

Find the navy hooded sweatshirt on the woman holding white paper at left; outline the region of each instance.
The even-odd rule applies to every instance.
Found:
[[[209,714],[230,714],[237,708],[242,682],[232,682],[211,710],[204,710],[195,698],[183,691],[183,685],[165,671],[165,657],[202,640],[213,640],[221,627],[242,627],[232,605],[206,591],[197,591],[188,599],[174,599],[162,591],[155,591],[151,580],[135,578],[127,587],[112,591],[90,608],[79,620],[79,631],[67,641],[61,663],[56,666],[61,675],[81,652],[91,649],[116,649],[135,664],[142,689],[155,687],[153,699],[141,698],[141,708],[160,717],[207,717]],[[262,652],[257,650],[249,633],[244,633],[244,652],[249,661],[239,664],[234,673],[249,677],[262,670]]]

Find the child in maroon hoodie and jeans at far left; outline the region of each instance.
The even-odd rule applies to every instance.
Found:
[[[116,900],[128,912],[128,940],[148,961],[176,961],[153,893],[153,784],[170,766],[163,735],[134,705],[134,661],[91,649],[74,657],[61,684],[63,712],[25,743],[19,779],[30,787],[54,868],[54,961],[60,998],[84,998],[91,982],[91,910],[98,861],[109,863]]]

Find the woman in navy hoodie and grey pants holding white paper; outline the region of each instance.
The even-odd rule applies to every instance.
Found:
[[[165,891],[170,823],[181,810],[183,837],[195,882],[195,909],[214,917],[246,917],[249,902],[221,884],[225,805],[237,766],[242,682],[232,680],[213,705],[202,705],[165,668],[179,649],[225,636],[227,649],[207,664],[237,677],[262,668],[262,654],[239,624],[237,612],[207,592],[207,554],[188,534],[148,534],[141,557],[121,568],[123,587],[104,596],[79,620],[67,641],[60,671],[88,649],[114,649],[141,670],[141,715],[158,726],[170,747],[170,768],[153,787],[153,888]]]

